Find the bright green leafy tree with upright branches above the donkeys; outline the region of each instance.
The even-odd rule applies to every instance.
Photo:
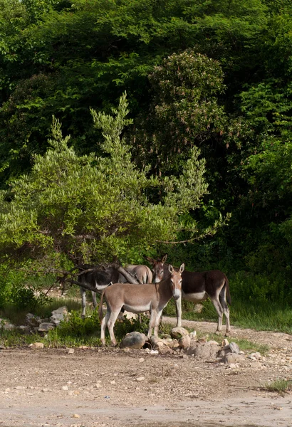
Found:
[[[127,113],[125,95],[113,115],[92,111],[103,130],[103,156],[79,157],[53,120],[46,154],[35,156],[31,174],[1,191],[2,260],[31,260],[43,269],[58,268],[65,259],[75,265],[138,260],[157,241],[182,229],[194,233],[196,223],[183,218],[207,191],[199,150],[192,149],[179,178],[148,176],[149,168],[137,169],[121,138],[131,123]],[[149,196],[155,191],[163,193],[158,203]]]

